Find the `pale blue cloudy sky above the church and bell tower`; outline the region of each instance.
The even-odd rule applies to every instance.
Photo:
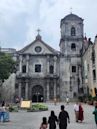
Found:
[[[59,50],[60,20],[72,13],[84,19],[84,33],[97,34],[97,0],[0,0],[0,46],[20,50],[39,28],[42,40]]]

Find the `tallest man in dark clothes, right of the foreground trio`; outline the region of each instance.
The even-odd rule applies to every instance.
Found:
[[[64,110],[64,105],[61,105],[61,112],[59,113],[59,128],[67,129],[67,121],[70,123],[69,114]]]

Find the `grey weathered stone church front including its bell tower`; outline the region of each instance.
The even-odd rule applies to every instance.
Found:
[[[60,51],[46,44],[38,34],[17,52],[15,96],[41,102],[83,94],[83,19],[69,14],[61,19],[60,29]]]

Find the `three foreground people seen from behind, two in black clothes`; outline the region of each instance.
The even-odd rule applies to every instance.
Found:
[[[67,129],[67,122],[70,123],[69,114],[64,110],[65,106],[61,105],[61,111],[59,116],[57,117],[54,111],[51,111],[51,115],[48,118],[43,117],[43,121],[40,125],[40,129],[47,129],[49,125],[49,129],[56,129],[56,123],[59,125],[59,129]]]

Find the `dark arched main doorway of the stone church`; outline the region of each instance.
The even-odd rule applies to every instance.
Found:
[[[43,102],[43,87],[36,85],[32,88],[32,102]]]

